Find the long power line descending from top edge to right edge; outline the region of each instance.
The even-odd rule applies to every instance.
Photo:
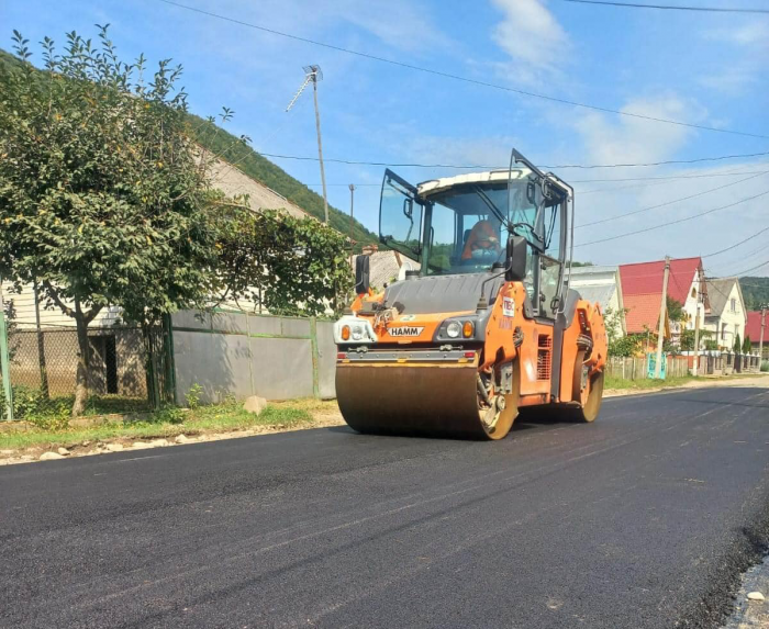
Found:
[[[481,87],[486,87],[486,88],[492,88],[492,89],[502,90],[502,91],[505,91],[505,92],[512,92],[512,93],[516,93],[516,94],[521,94],[521,96],[525,96],[525,97],[530,97],[530,98],[542,99],[542,100],[546,100],[546,101],[550,101],[550,102],[556,102],[556,103],[560,103],[560,104],[567,104],[567,105],[571,105],[571,106],[578,106],[578,108],[582,108],[582,109],[589,109],[589,110],[592,110],[592,111],[600,111],[600,112],[604,112],[604,113],[613,113],[613,114],[616,114],[616,115],[623,115],[623,116],[627,116],[627,117],[634,117],[634,119],[640,119],[640,120],[648,120],[648,121],[651,121],[651,122],[658,122],[658,123],[664,123],[664,124],[672,124],[672,125],[677,125],[677,126],[686,126],[686,127],[689,127],[689,128],[699,128],[699,130],[702,130],[702,131],[712,131],[712,132],[715,132],[715,133],[726,133],[726,134],[731,134],[731,135],[742,135],[742,136],[746,136],[746,137],[758,137],[758,138],[762,138],[762,139],[769,139],[769,136],[768,136],[768,135],[761,135],[761,134],[757,134],[757,133],[748,133],[748,132],[743,132],[743,131],[734,131],[734,130],[728,130],[728,128],[717,128],[717,127],[714,127],[714,126],[706,126],[706,125],[701,125],[701,124],[681,122],[681,121],[677,121],[677,120],[669,120],[669,119],[664,119],[664,117],[656,117],[656,116],[650,116],[650,115],[644,115],[644,114],[639,114],[639,113],[632,113],[632,112],[628,112],[628,111],[615,110],[615,109],[604,108],[604,106],[600,106],[600,105],[592,105],[592,104],[588,104],[588,103],[580,103],[580,102],[577,102],[577,101],[570,101],[570,100],[561,99],[561,98],[558,98],[558,97],[550,97],[550,96],[547,96],[547,94],[540,94],[540,93],[536,93],[536,92],[530,92],[530,91],[526,91],[526,90],[521,90],[521,89],[516,89],[516,88],[511,88],[511,87],[508,87],[508,86],[501,86],[501,85],[498,85],[498,83],[491,83],[491,82],[488,82],[488,81],[481,81],[481,80],[479,80],[479,79],[471,79],[471,78],[469,78],[469,77],[462,77],[462,76],[460,76],[460,75],[455,75],[455,74],[446,72],[446,71],[443,71],[443,70],[435,70],[435,69],[432,69],[432,68],[424,68],[424,67],[421,67],[421,66],[415,66],[415,65],[413,65],[413,64],[406,64],[406,63],[404,63],[404,61],[395,61],[394,59],[388,59],[387,57],[379,57],[379,56],[377,56],[377,55],[370,55],[370,54],[368,54],[368,53],[361,53],[360,50],[353,50],[353,49],[350,49],[350,48],[344,48],[344,47],[337,46],[337,45],[335,45],[335,44],[328,44],[328,43],[326,43],[326,42],[319,42],[319,41],[316,41],[316,40],[310,40],[309,37],[302,37],[302,36],[300,36],[300,35],[293,35],[293,34],[291,34],[291,33],[285,33],[285,32],[282,32],[282,31],[276,31],[275,29],[268,29],[267,26],[260,26],[260,25],[258,25],[258,24],[254,24],[254,23],[250,23],[250,22],[245,22],[244,20],[237,20],[236,18],[230,18],[230,16],[227,16],[227,15],[221,15],[221,14],[219,14],[219,13],[213,13],[213,12],[211,12],[211,11],[205,11],[205,10],[203,10],[203,9],[198,9],[198,8],[196,8],[196,7],[190,7],[190,5],[188,5],[188,4],[182,4],[182,3],[180,3],[180,2],[175,2],[174,0],[159,0],[159,1],[160,1],[160,2],[164,2],[165,4],[170,4],[170,5],[172,5],[172,7],[178,7],[178,8],[180,8],[180,9],[186,9],[186,10],[188,10],[188,11],[193,11],[193,12],[200,13],[200,14],[202,14],[202,15],[208,15],[209,18],[215,18],[215,19],[218,19],[218,20],[223,20],[223,21],[225,21],[225,22],[232,22],[233,24],[239,24],[241,26],[247,26],[248,29],[255,29],[255,30],[261,31],[261,32],[264,32],[264,33],[270,33],[271,35],[278,35],[278,36],[280,36],[280,37],[286,37],[286,38],[289,38],[289,40],[293,40],[293,41],[296,41],[296,42],[303,42],[303,43],[305,43],[305,44],[312,44],[313,46],[321,46],[321,47],[328,48],[328,49],[332,49],[332,50],[337,50],[337,52],[339,52],[339,53],[345,53],[345,54],[347,54],[347,55],[354,55],[354,56],[356,56],[356,57],[363,57],[363,58],[365,58],[365,59],[370,59],[370,60],[374,60],[374,61],[380,61],[380,63],[382,63],[382,64],[389,64],[389,65],[391,65],[391,66],[398,66],[398,67],[401,67],[401,68],[406,68],[406,69],[410,69],[410,70],[415,70],[415,71],[417,71],[417,72],[425,72],[425,74],[428,74],[428,75],[434,75],[434,76],[437,76],[437,77],[443,77],[443,78],[452,79],[452,80],[455,80],[455,81],[462,81],[462,82],[466,82],[466,83],[471,83],[471,85],[481,86]]]

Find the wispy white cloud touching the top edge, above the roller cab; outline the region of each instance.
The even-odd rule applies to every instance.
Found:
[[[494,42],[513,61],[513,78],[544,71],[558,72],[569,38],[543,0],[492,0],[503,13],[493,31]]]

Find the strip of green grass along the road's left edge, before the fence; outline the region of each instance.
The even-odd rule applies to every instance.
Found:
[[[127,416],[87,428],[45,429],[32,427],[0,433],[0,449],[16,450],[32,447],[56,448],[105,439],[168,438],[199,433],[226,433],[256,427],[291,427],[311,423],[312,415],[298,405],[268,406],[259,416],[243,411],[238,403],[201,406],[194,411],[178,408],[158,413]]]

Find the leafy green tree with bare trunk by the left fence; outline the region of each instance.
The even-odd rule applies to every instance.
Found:
[[[143,57],[118,59],[67,34],[45,70],[0,67],[0,276],[36,282],[48,305],[75,319],[79,356],[73,415],[88,397],[88,326],[108,305],[146,323],[202,303],[216,263],[216,223],[204,160],[186,127],[181,68],[160,61],[144,81]]]

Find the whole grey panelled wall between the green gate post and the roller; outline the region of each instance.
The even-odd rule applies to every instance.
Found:
[[[313,318],[185,311],[171,317],[179,404],[193,384],[201,402],[333,397],[333,324]]]

